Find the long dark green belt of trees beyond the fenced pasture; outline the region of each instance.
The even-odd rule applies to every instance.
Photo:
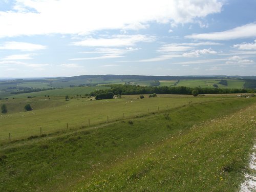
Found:
[[[188,87],[141,87],[129,84],[111,84],[111,89],[97,90],[90,94],[96,96],[102,93],[114,93],[114,95],[141,95],[141,94],[183,94],[191,95],[193,90],[198,90],[198,94],[226,94],[226,93],[251,93],[248,89],[220,89],[220,88],[188,88]]]

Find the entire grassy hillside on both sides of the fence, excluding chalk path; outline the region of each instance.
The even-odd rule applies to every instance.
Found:
[[[256,134],[255,98],[137,98],[9,100],[10,113],[0,116],[0,191],[239,189]],[[19,111],[19,102],[34,110]]]

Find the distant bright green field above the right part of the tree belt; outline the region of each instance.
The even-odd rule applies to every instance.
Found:
[[[218,79],[202,79],[202,80],[180,80],[177,86],[184,86],[184,87],[201,87],[201,88],[214,88],[213,84],[217,84],[219,88],[228,88],[228,89],[243,89],[244,80],[237,80],[237,79],[227,79],[227,86],[219,83],[220,80]]]

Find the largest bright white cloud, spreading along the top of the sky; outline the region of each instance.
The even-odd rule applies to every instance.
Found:
[[[218,0],[18,0],[13,10],[0,12],[0,37],[138,30],[152,22],[175,26],[219,13],[222,5]]]

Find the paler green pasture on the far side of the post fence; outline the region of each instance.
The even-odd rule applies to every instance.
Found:
[[[107,99],[90,101],[87,98],[71,99],[65,101],[63,99],[54,100],[53,98],[46,100],[39,98],[30,99],[11,99],[5,102],[8,113],[0,114],[1,132],[0,141],[9,139],[11,133],[12,139],[27,138],[32,135],[40,134],[40,127],[43,133],[53,133],[66,129],[66,123],[69,127],[76,129],[77,127],[87,126],[88,119],[90,124],[95,125],[107,121],[114,121],[124,117],[135,117],[138,115],[147,114],[148,112],[157,112],[168,108],[176,108],[181,104],[187,104],[188,101],[193,103],[209,100],[219,100],[220,97],[201,97],[195,98],[191,95],[179,98],[178,95],[169,97],[168,95],[158,95],[156,98],[148,98],[145,95],[144,99],[138,99],[137,96],[123,96],[122,99]],[[45,99],[45,97],[43,98]],[[232,99],[232,98],[224,98]],[[25,104],[30,103],[33,111],[25,112]],[[52,107],[50,107],[52,105]],[[49,107],[47,107],[49,106]]]

